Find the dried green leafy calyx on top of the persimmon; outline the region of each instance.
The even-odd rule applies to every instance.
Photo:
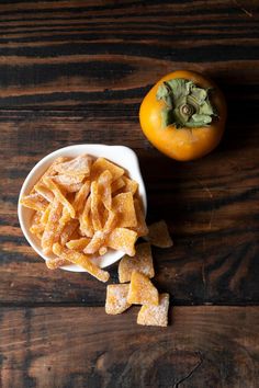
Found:
[[[165,102],[162,126],[199,128],[210,125],[213,117],[218,117],[210,101],[211,91],[182,78],[162,82],[156,94],[157,100]]]

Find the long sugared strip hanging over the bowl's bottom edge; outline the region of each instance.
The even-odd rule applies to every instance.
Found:
[[[57,256],[83,267],[89,274],[97,277],[101,282],[108,282],[110,277],[109,272],[103,271],[93,264],[89,255],[61,247],[59,243],[54,244],[53,252]]]

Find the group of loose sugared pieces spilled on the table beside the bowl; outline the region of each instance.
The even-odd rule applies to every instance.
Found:
[[[135,256],[125,255],[120,261],[120,284],[106,287],[105,311],[116,315],[127,310],[132,305],[142,305],[137,316],[138,324],[166,327],[169,294],[159,295],[150,281],[155,276],[150,243],[160,248],[172,246],[166,222],[150,225],[146,239],[150,242],[139,243]]]

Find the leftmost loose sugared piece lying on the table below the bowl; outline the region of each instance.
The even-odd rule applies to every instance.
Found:
[[[106,313],[122,313],[131,307],[131,304],[127,301],[128,288],[128,284],[110,284],[106,287]]]

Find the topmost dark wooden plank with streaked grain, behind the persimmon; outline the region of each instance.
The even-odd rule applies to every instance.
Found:
[[[2,107],[135,109],[179,68],[258,94],[256,1],[19,1],[0,21]]]

